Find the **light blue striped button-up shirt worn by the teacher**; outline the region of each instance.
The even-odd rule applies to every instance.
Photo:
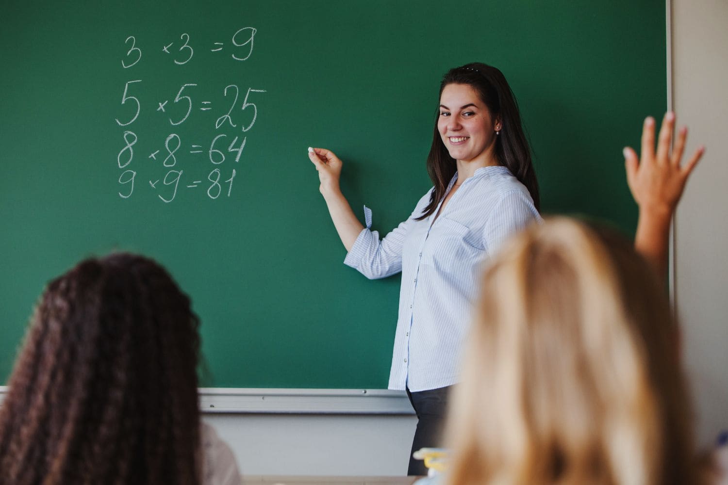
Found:
[[[448,192],[457,174],[448,186]],[[389,389],[429,390],[452,385],[459,378],[459,359],[480,269],[489,254],[510,233],[540,216],[529,191],[506,167],[482,167],[424,220],[430,189],[412,215],[384,239],[366,228],[344,264],[367,278],[402,271],[400,306],[389,372]]]

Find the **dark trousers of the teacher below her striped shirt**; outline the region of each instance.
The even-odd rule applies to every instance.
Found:
[[[412,451],[407,468],[408,475],[427,475],[427,468],[422,460],[415,460],[412,454],[420,448],[435,448],[441,446],[440,435],[445,421],[448,393],[452,388],[421,390],[411,393],[407,389],[407,397],[417,414],[417,428],[412,440]]]

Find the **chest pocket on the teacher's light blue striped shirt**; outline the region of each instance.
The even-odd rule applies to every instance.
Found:
[[[422,263],[432,265],[438,273],[470,273],[483,257],[479,231],[440,216],[430,228],[422,251]]]

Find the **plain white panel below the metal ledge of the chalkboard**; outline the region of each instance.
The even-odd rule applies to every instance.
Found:
[[[205,414],[243,475],[407,474],[414,415]]]

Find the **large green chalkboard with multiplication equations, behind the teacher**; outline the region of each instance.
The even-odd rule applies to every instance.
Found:
[[[204,385],[386,387],[399,278],[342,264],[306,147],[386,233],[430,188],[441,76],[473,60],[518,97],[542,209],[632,232],[621,151],[665,110],[662,0],[5,0],[0,382],[44,284],[124,249],[191,294]]]

